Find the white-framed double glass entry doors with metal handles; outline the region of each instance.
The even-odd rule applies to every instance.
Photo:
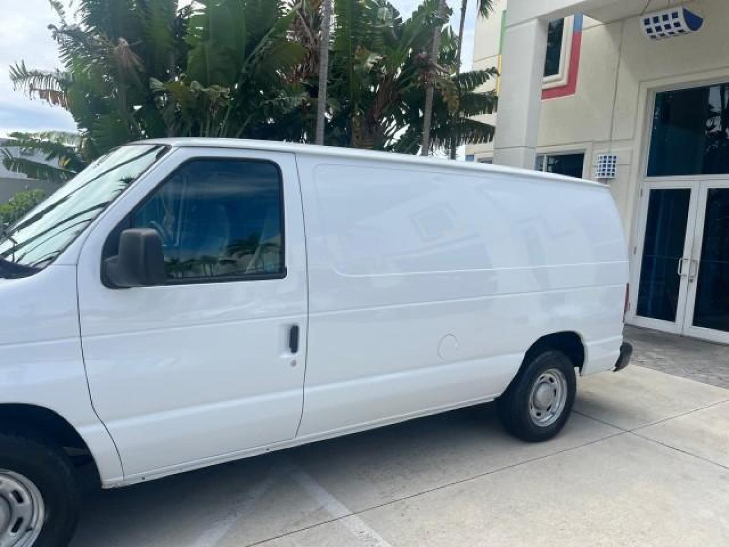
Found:
[[[729,181],[649,182],[632,322],[729,343]]]

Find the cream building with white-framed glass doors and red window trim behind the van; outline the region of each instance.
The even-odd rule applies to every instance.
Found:
[[[599,180],[628,233],[628,321],[729,342],[729,1],[497,0],[487,66],[496,141],[467,159],[590,179],[616,160]]]

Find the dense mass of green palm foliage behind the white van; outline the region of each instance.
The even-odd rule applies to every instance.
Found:
[[[13,158],[13,171],[68,179],[120,144],[164,136],[313,142],[321,0],[50,0],[61,69],[10,69],[18,90],[67,109],[77,142],[15,136],[58,169]],[[490,0],[480,0],[488,11]],[[491,112],[477,87],[494,71],[458,74],[458,42],[438,0],[402,18],[388,0],[335,0],[327,144],[416,153],[426,86],[435,84],[432,140],[491,139],[471,119]],[[450,14],[448,14],[450,15]],[[440,55],[429,59],[434,33]]]

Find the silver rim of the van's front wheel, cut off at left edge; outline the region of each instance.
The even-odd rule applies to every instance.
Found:
[[[44,516],[43,497],[33,481],[0,469],[0,547],[31,547]]]

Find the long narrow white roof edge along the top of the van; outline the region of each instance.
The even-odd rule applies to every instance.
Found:
[[[168,139],[152,139],[139,141],[134,144],[165,144],[171,147],[214,147],[235,148],[241,150],[263,150],[266,152],[293,152],[307,155],[320,155],[330,158],[350,158],[357,160],[383,161],[388,163],[405,163],[413,166],[437,166],[464,171],[487,171],[490,173],[513,174],[527,176],[549,182],[569,182],[570,184],[588,185],[607,190],[606,185],[585,179],[575,179],[572,176],[555,175],[496,165],[487,165],[471,161],[453,161],[440,158],[424,157],[421,155],[395,154],[393,152],[373,152],[356,148],[324,147],[315,144],[298,144],[279,141],[254,141],[247,139],[216,139],[205,137],[179,137]]]

